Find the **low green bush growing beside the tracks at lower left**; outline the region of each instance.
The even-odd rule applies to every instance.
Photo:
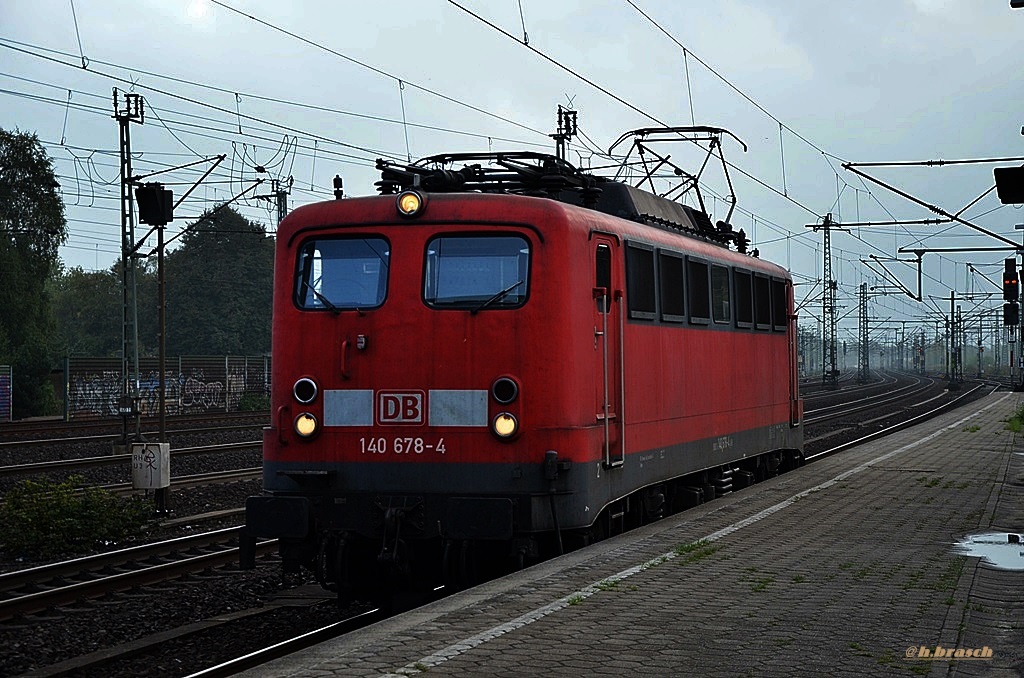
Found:
[[[150,502],[125,500],[99,488],[25,480],[0,505],[0,547],[8,558],[47,559],[91,551],[142,532],[153,515]]]

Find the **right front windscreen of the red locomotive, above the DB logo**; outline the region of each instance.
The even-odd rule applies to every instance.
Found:
[[[441,236],[427,243],[423,300],[435,308],[518,308],[526,302],[529,243],[521,236]]]

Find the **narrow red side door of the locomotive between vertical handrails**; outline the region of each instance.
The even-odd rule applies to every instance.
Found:
[[[621,466],[626,460],[623,421],[625,303],[622,284],[613,261],[618,239],[593,236],[594,251],[594,352],[597,356],[597,422],[603,429],[606,467]]]

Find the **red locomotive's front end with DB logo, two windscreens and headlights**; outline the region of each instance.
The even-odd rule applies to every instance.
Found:
[[[446,550],[469,542],[513,559],[537,551],[513,543],[554,521],[544,463],[571,388],[552,379],[565,368],[568,285],[546,262],[562,239],[537,224],[560,210],[407,192],[282,223],[273,421],[251,536],[279,538],[290,568],[328,584],[371,575],[366,562],[443,570],[463,557]]]

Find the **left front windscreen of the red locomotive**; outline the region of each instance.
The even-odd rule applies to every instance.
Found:
[[[295,304],[309,310],[376,308],[387,295],[383,238],[311,240],[299,250]]]

